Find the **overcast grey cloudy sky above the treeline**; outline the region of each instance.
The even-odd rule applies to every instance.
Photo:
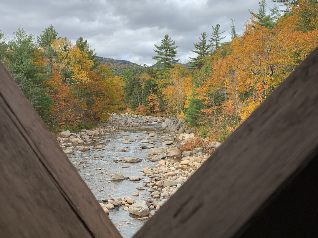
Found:
[[[267,0],[267,12],[274,3]],[[176,59],[195,57],[193,43],[202,32],[211,35],[220,24],[224,41],[231,40],[230,23],[243,32],[244,23],[258,12],[256,0],[0,0],[0,30],[7,38],[19,27],[35,38],[54,26],[73,43],[82,36],[97,56],[153,65],[154,44],[168,34],[176,42]],[[210,39],[210,36],[208,37]]]

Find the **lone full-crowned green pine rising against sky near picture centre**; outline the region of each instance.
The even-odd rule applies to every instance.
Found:
[[[164,36],[164,38],[161,40],[161,45],[154,46],[157,50],[154,50],[154,52],[157,53],[156,56],[153,56],[152,59],[157,60],[156,66],[160,67],[162,65],[162,69],[158,69],[159,76],[163,76],[164,74],[167,74],[171,68],[173,68],[172,62],[179,62],[179,60],[176,60],[176,48],[178,46],[174,46],[176,44],[175,41],[172,41],[171,37],[169,37],[168,34]]]

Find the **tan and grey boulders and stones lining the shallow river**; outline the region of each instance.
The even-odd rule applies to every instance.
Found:
[[[121,180],[140,181],[142,184],[135,186],[135,191],[131,192],[131,197],[107,197],[100,198],[98,201],[105,210],[109,213],[110,209],[123,209],[129,211],[130,214],[136,215],[136,219],[143,220],[151,217],[164,204],[164,202],[174,194],[181,185],[186,182],[190,176],[209,157],[208,150],[205,148],[196,148],[192,151],[181,151],[178,149],[178,144],[186,140],[194,140],[195,135],[191,134],[184,124],[171,118],[137,116],[125,114],[122,116],[112,115],[107,122],[93,130],[82,129],[79,134],[73,134],[69,131],[62,132],[58,135],[57,141],[65,153],[74,153],[76,151],[83,152],[84,159],[85,151],[103,151],[107,150],[107,141],[111,139],[101,139],[101,137],[110,135],[112,132],[124,128],[139,127],[143,124],[151,122],[161,122],[162,128],[166,129],[167,125],[173,132],[167,131],[152,131],[143,138],[131,136],[122,141],[123,144],[140,143],[140,148],[137,150],[148,150],[144,158],[138,157],[118,157],[115,161],[117,164],[122,164],[122,168],[129,167],[126,164],[137,164],[141,161],[151,161],[153,166],[143,166],[140,164],[142,176],[137,174],[134,176],[124,176],[121,172],[105,174],[105,182],[114,183]],[[168,122],[168,123],[167,123]],[[176,124],[176,127],[173,125]],[[178,125],[179,124],[179,125]],[[187,134],[179,134],[179,132]],[[167,137],[169,137],[167,139]],[[125,138],[122,136],[121,138]],[[179,141],[179,140],[180,141]],[[176,143],[178,140],[179,143]],[[158,143],[158,141],[160,141]],[[116,146],[116,145],[114,145]],[[209,149],[216,148],[217,145],[210,145]],[[125,149],[121,149],[123,152]],[[118,150],[118,151],[121,151]],[[151,164],[151,162],[149,162]],[[83,166],[82,168],[85,168]],[[96,171],[101,171],[102,168],[96,168]],[[108,177],[109,176],[109,177]],[[146,176],[146,178],[145,178]],[[140,199],[140,192],[144,197]],[[118,224],[120,225],[120,224]]]

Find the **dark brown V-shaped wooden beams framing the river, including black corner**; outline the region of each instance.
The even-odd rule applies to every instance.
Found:
[[[1,238],[121,237],[2,64],[0,122]],[[318,49],[134,238],[317,237],[317,155]]]

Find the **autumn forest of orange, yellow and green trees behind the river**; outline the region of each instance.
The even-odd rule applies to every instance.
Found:
[[[12,39],[0,31],[0,60],[53,134],[129,112],[175,115],[222,142],[318,46],[317,0],[273,2],[286,9],[267,11],[260,1],[242,34],[232,20],[230,42],[222,41],[219,24],[202,32],[189,66],[178,64],[178,46],[168,34],[154,45],[155,67],[119,67],[100,63],[87,40],[73,43],[52,25],[36,39],[23,28]]]

